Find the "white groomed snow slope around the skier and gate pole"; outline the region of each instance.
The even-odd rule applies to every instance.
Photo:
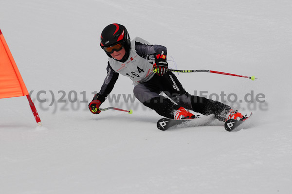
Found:
[[[159,115],[122,97],[102,106],[132,115],[91,114],[84,101],[106,76],[99,38],[110,23],[165,45],[178,69],[255,75],[177,75],[190,93],[264,94],[234,105],[253,124],[160,131]],[[43,123],[26,97],[0,99],[0,194],[292,193],[291,0],[0,0],[0,29]],[[112,94],[132,89],[120,76]]]

